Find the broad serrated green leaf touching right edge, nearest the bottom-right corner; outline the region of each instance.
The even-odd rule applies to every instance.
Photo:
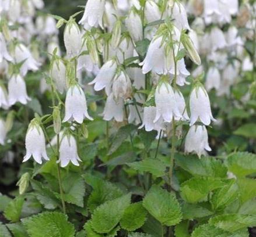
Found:
[[[224,214],[212,217],[209,224],[229,232],[256,226],[256,215]]]

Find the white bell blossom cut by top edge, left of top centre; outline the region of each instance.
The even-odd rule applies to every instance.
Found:
[[[88,0],[85,6],[85,12],[79,24],[83,24],[84,28],[87,26],[103,28],[103,14],[104,14],[105,0]]]

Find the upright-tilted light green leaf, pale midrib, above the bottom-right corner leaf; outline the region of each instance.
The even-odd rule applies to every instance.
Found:
[[[236,184],[235,179],[230,179],[226,182],[226,185],[220,189],[217,189],[213,193],[211,203],[213,210],[223,210],[230,203],[234,202],[239,195],[239,187]]]

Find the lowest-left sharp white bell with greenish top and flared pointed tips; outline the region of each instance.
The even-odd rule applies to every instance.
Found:
[[[42,158],[49,160],[45,148],[44,132],[36,119],[33,119],[29,124],[25,144],[26,156],[24,156],[23,162],[29,160],[31,156],[38,164],[42,163]]]

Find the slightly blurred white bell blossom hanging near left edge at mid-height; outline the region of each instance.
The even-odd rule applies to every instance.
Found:
[[[26,105],[31,99],[27,95],[27,88],[24,79],[19,75],[13,75],[8,82],[8,100],[9,105],[17,102]]]

